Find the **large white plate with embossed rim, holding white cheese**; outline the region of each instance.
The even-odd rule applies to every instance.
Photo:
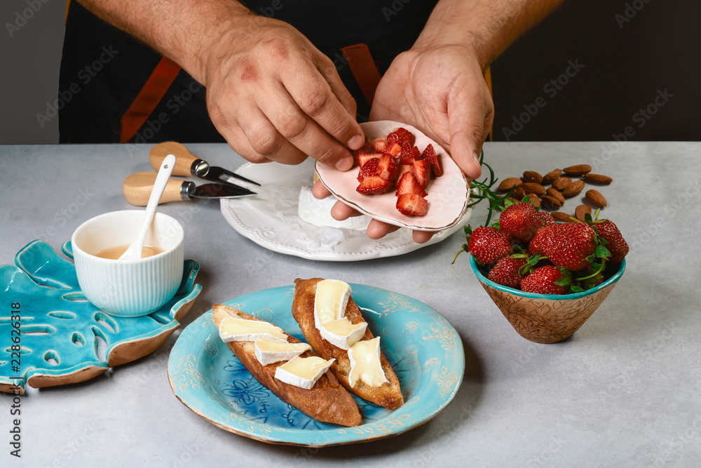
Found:
[[[259,246],[309,260],[350,262],[402,255],[447,239],[468,222],[472,213],[470,208],[457,225],[435,234],[427,243],[414,242],[408,229],[373,240],[365,231],[325,229],[299,219],[299,190],[313,184],[313,159],[297,166],[246,163],[236,173],[260,182],[262,187],[254,187],[254,196],[222,199],[222,215],[229,225]],[[343,234],[343,239],[336,241],[333,234]]]

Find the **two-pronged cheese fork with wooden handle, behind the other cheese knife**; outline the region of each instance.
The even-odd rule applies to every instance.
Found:
[[[185,145],[174,141],[158,143],[158,145],[151,148],[151,152],[149,153],[151,167],[158,171],[158,168],[160,168],[163,163],[163,159],[165,159],[165,156],[168,156],[168,154],[175,154],[177,158],[175,168],[173,168],[173,175],[182,175],[184,177],[193,176],[209,180],[210,182],[223,182],[236,185],[231,180],[233,178],[260,187],[258,182],[247,179],[243,177],[243,175],[238,175],[237,173],[227,171],[217,166],[210,166],[210,163],[192,154]]]

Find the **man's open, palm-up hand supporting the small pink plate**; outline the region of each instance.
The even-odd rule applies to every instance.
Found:
[[[412,48],[398,55],[382,77],[370,119],[415,126],[444,147],[468,178],[476,179],[494,104],[470,48]]]

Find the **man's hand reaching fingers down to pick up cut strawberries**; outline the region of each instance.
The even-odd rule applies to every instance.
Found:
[[[201,60],[210,117],[238,154],[351,168],[349,148],[365,142],[355,101],[333,62],[297,29],[244,15]]]

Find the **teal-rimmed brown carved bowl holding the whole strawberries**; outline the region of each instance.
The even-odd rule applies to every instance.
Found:
[[[571,337],[604,302],[623,275],[625,260],[621,262],[618,272],[599,286],[581,293],[564,295],[524,293],[494,283],[479,271],[472,255],[470,267],[491,300],[519,335],[538,343],[557,343]]]

